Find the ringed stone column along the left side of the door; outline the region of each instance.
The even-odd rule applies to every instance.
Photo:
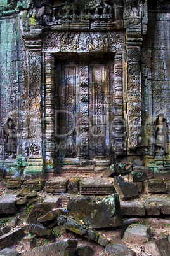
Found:
[[[46,168],[53,167],[55,158],[55,108],[54,108],[54,57],[50,53],[45,55],[45,147]]]

